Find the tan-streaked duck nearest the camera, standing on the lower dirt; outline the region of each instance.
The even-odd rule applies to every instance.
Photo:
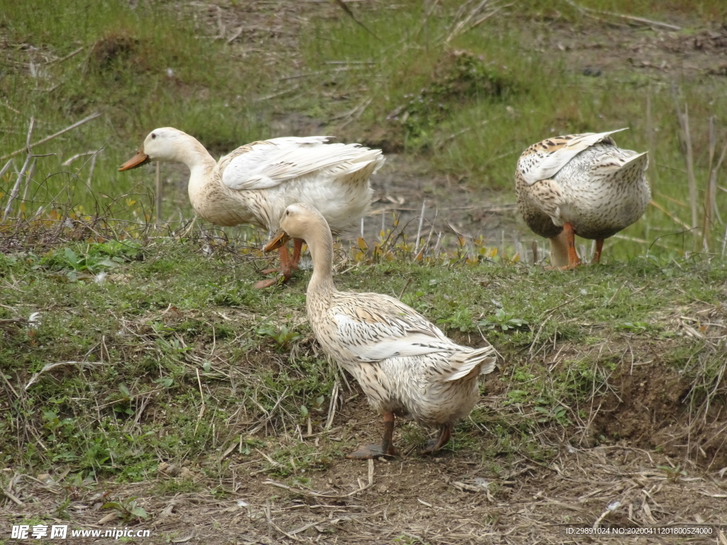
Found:
[[[338,291],[333,280],[333,237],[326,218],[308,203],[288,206],[265,251],[289,238],[302,238],[313,259],[306,310],[324,352],[361,385],[382,415],[382,442],[365,445],[349,459],[395,456],[395,416],[438,428],[422,453],[449,442],[454,423],[472,411],[480,393],[478,377],[494,370],[494,347],[471,348],[398,299],[378,293]]]

